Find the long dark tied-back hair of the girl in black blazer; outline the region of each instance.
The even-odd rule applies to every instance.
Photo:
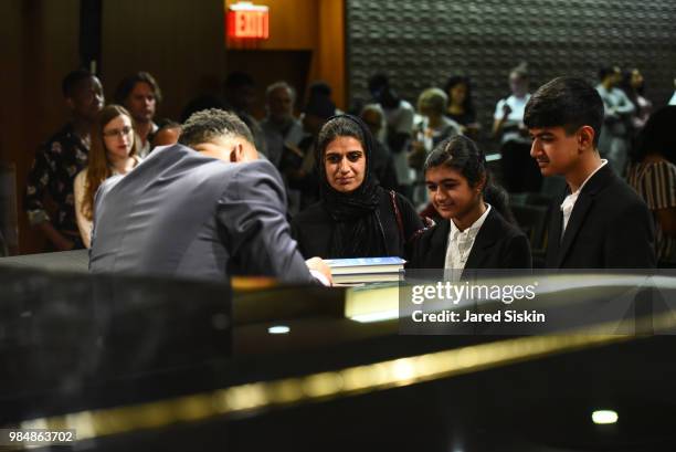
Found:
[[[486,165],[486,156],[472,139],[456,135],[441,141],[427,156],[423,171],[444,166],[457,170],[469,187],[474,188],[485,178],[482,195],[484,201],[493,206],[511,224],[516,220],[509,210],[509,197],[505,189],[493,182],[493,177]]]

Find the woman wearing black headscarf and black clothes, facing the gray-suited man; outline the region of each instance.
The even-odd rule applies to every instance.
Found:
[[[317,138],[320,201],[292,222],[304,255],[324,259],[404,256],[423,224],[411,203],[371,174],[373,137],[351,115],[330,118]]]

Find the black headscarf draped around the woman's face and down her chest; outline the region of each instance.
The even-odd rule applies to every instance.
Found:
[[[349,124],[352,123],[352,124]],[[355,134],[341,133],[346,127],[357,126],[363,145],[366,170],[361,185],[349,193],[334,189],[329,183],[325,167],[325,151],[328,144],[341,136]],[[353,127],[351,127],[353,128]],[[388,255],[378,206],[383,190],[371,174],[371,156],[373,151],[373,137],[367,125],[352,115],[338,115],[328,119],[318,137],[317,167],[320,180],[320,197],[325,208],[336,221],[330,241],[330,257],[367,257]]]

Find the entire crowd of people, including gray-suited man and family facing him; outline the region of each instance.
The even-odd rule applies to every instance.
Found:
[[[350,114],[326,83],[297,108],[279,81],[258,120],[254,81],[234,72],[222,97],[191,101],[179,123],[156,117],[162,93],[147,72],[104,106],[96,75],[74,71],[62,83],[71,117],[36,153],[24,206],[53,250],[92,248],[93,271],[326,282],[321,260],[340,257],[530,269],[508,193],[558,175],[567,191],[552,200],[546,266],[676,265],[676,106],[653,112],[637,69],[603,67],[595,87],[559,77],[534,94],[526,64],[508,80],[485,132],[464,76],[414,107],[378,73]],[[499,179],[479,145],[487,135]]]

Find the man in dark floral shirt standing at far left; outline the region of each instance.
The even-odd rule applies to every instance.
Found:
[[[71,119],[35,154],[24,203],[30,224],[59,251],[84,248],[75,222],[73,180],[87,166],[89,130],[104,105],[101,82],[87,71],[71,72],[62,90]],[[47,195],[55,204],[53,214],[45,206]]]

